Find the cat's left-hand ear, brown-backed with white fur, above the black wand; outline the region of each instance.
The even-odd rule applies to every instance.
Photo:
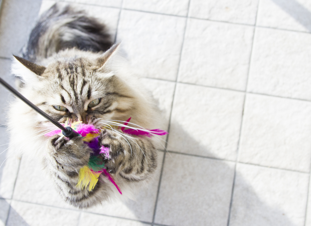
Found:
[[[21,77],[24,82],[33,82],[37,80],[38,76],[41,76],[45,69],[44,66],[34,64],[21,57],[14,56],[13,58],[12,73]]]

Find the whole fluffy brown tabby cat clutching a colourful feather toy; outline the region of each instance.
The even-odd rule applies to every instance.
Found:
[[[58,122],[69,119],[106,128],[99,137],[100,145],[109,147],[105,166],[123,195],[152,180],[158,168],[157,140],[125,136],[103,123],[131,117],[131,125],[141,128],[163,126],[156,101],[131,73],[120,45],[113,44],[103,24],[70,6],[53,5],[13,58],[12,73],[22,81],[21,94]],[[81,137],[44,136],[56,127],[18,99],[8,115],[13,147],[43,162],[67,203],[88,208],[120,196],[103,175],[93,190],[77,187],[79,170],[91,153]]]

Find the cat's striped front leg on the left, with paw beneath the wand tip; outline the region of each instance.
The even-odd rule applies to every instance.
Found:
[[[87,165],[91,152],[91,148],[83,143],[81,137],[69,140],[55,135],[49,139],[47,149],[45,166],[65,201],[85,208],[104,199],[102,183],[97,183],[92,191],[77,187],[80,168]]]

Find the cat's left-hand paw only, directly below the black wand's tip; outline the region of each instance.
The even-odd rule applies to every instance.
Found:
[[[91,149],[83,143],[81,137],[67,139],[54,135],[47,145],[49,156],[57,167],[75,170],[87,165]]]

